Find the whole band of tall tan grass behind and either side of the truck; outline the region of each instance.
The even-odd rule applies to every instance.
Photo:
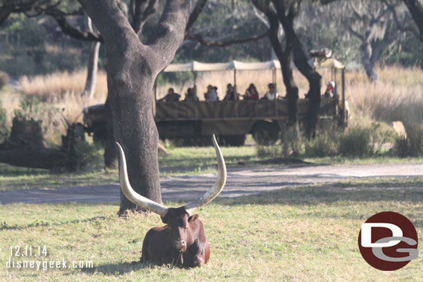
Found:
[[[336,78],[331,77],[329,70],[318,70],[322,75],[322,89],[325,91],[329,80],[336,80],[340,91],[340,71]],[[402,67],[384,67],[376,69],[379,81],[373,84],[368,82],[365,72],[362,70],[347,71],[346,73],[346,98],[352,109],[352,123],[377,121],[406,121],[423,123],[423,71],[418,68],[404,69]],[[107,96],[107,80],[103,71],[98,72],[94,99],[87,101],[80,96],[85,86],[86,71],[80,70],[73,73],[51,73],[47,76],[21,77],[21,87],[24,96],[37,96],[52,107],[63,109],[62,114],[69,122],[82,121],[82,109],[88,105],[104,103]],[[308,91],[307,80],[297,71],[294,71],[295,82],[300,88],[300,98]],[[279,94],[285,95],[285,87],[282,83],[282,75],[277,71],[277,88]],[[239,94],[254,83],[261,96],[264,95],[269,82],[272,82],[272,71],[238,71],[236,73],[236,85]],[[218,95],[221,99],[225,96],[227,83],[234,83],[233,71],[216,71],[198,73],[197,87],[200,100],[207,85],[218,87]],[[158,97],[163,97],[169,87],[184,94],[192,82],[177,84],[157,85]],[[3,101],[3,106],[8,110],[9,116],[13,109],[19,106],[17,100],[10,103]],[[62,129],[63,130],[63,129]],[[60,131],[62,131],[60,130]]]

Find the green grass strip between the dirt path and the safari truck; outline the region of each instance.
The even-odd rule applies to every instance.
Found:
[[[101,150],[100,150],[101,151]],[[239,162],[245,166],[261,166],[256,161],[271,157],[257,157],[254,146],[223,147],[223,155],[227,166],[236,166]],[[101,152],[102,153],[102,152]],[[98,158],[102,160],[101,158]],[[311,164],[382,164],[382,163],[411,163],[421,162],[422,157],[398,158],[387,155],[372,157],[315,157],[304,158]],[[95,164],[100,168],[102,164]],[[160,177],[198,175],[216,171],[216,155],[214,148],[170,148],[167,155],[159,155]],[[117,170],[89,170],[77,173],[50,173],[49,170],[34,168],[17,168],[0,164],[0,191],[31,188],[61,188],[70,186],[88,186],[117,184],[119,176]]]

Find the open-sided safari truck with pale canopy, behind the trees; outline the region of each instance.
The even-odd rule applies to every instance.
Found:
[[[341,72],[340,99],[323,98],[320,102],[320,119],[326,119],[337,125],[347,124],[345,107],[345,67],[334,58],[320,62],[318,68],[331,70],[331,78],[336,82],[336,73]],[[237,71],[271,70],[272,81],[276,81],[276,71],[280,71],[277,60],[268,62],[225,62],[170,64],[164,72],[190,71],[193,73],[193,89],[196,89],[196,77],[200,71],[233,71],[236,90]],[[339,92],[339,91],[338,91]],[[252,134],[254,141],[263,145],[274,144],[279,133],[284,132],[288,120],[288,100],[218,100],[218,101],[157,101],[155,85],[155,103],[153,115],[160,139],[184,139],[201,141],[218,135],[220,141],[228,146],[242,146],[245,134]],[[298,100],[298,117],[304,120],[307,114],[308,99]],[[106,127],[103,105],[84,109],[84,123],[87,132],[94,133],[94,141],[105,139]],[[189,142],[188,142],[189,143]],[[191,142],[195,144],[195,142]]]

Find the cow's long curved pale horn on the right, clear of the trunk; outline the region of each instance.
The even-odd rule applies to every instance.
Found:
[[[216,150],[216,158],[217,158],[217,167],[218,167],[217,179],[213,187],[210,188],[209,191],[207,191],[204,195],[202,195],[197,200],[190,202],[189,204],[184,206],[185,210],[190,215],[193,214],[196,211],[196,209],[200,208],[200,206],[204,206],[205,204],[212,202],[212,200],[221,193],[221,191],[223,190],[223,187],[225,187],[225,183],[226,183],[225,159],[223,159],[221,148],[219,148],[214,134],[213,134],[213,144],[214,144],[214,149]]]

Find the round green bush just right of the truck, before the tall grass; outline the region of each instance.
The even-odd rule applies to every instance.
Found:
[[[339,154],[349,157],[361,157],[372,154],[370,132],[371,130],[368,127],[350,127],[339,138]]]

